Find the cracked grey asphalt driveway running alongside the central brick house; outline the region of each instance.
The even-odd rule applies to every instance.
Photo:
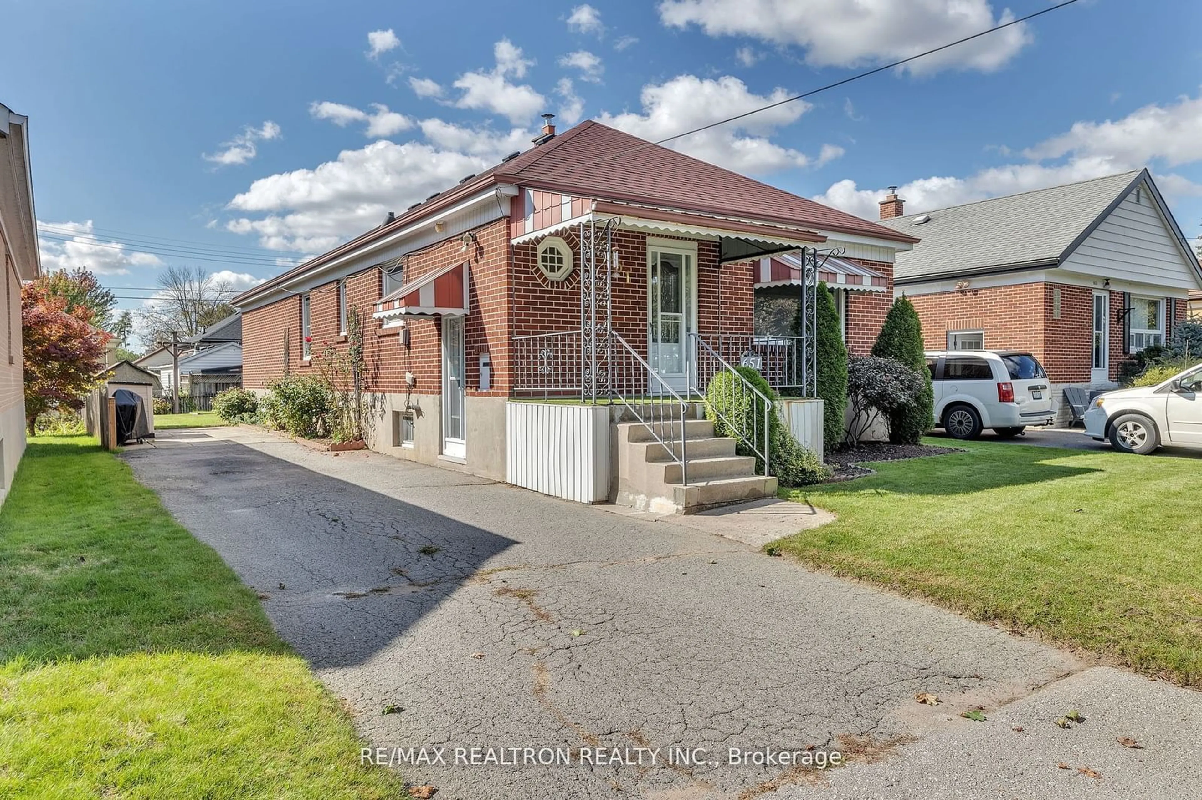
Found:
[[[870,781],[883,754],[983,730],[950,710],[992,712],[1083,668],[671,518],[249,429],[167,431],[123,458],[260,592],[394,760],[392,748],[423,746],[447,760],[454,747],[573,751],[569,766],[400,764],[440,800],[825,796],[852,775]],[[582,747],[661,750],[655,765],[582,765]],[[672,747],[707,756],[667,764]],[[869,763],[831,787],[810,770],[730,765],[731,747]],[[929,774],[914,795],[881,780],[880,795],[846,783],[846,796],[938,794]]]

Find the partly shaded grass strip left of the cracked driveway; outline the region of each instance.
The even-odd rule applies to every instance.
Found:
[[[0,509],[0,796],[397,798],[255,593],[89,437]]]

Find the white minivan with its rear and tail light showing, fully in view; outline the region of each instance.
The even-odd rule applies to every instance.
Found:
[[[1028,425],[1051,425],[1052,386],[1031,353],[1012,350],[939,350],[927,353],[935,389],[935,426],[956,438],[986,428],[1013,437]]]

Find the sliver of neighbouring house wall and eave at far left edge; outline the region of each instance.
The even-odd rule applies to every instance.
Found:
[[[0,105],[0,257],[5,274],[6,334],[0,338],[0,502],[8,496],[25,452],[25,376],[20,339],[20,285],[37,277],[34,185],[29,172],[29,119]]]

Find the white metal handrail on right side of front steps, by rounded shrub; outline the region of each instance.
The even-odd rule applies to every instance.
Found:
[[[690,333],[689,338],[695,353],[694,369],[689,371],[689,390],[704,398],[706,406],[714,417],[739,440],[744,447],[760,460],[764,477],[768,476],[768,456],[770,455],[769,430],[772,400],[750,381],[734,371],[734,366],[724,359],[701,336]],[[718,389],[710,383],[720,374],[730,375]],[[713,402],[710,389],[718,393],[719,402]],[[733,413],[737,410],[751,408],[754,413]],[[721,434],[719,434],[721,435]]]

